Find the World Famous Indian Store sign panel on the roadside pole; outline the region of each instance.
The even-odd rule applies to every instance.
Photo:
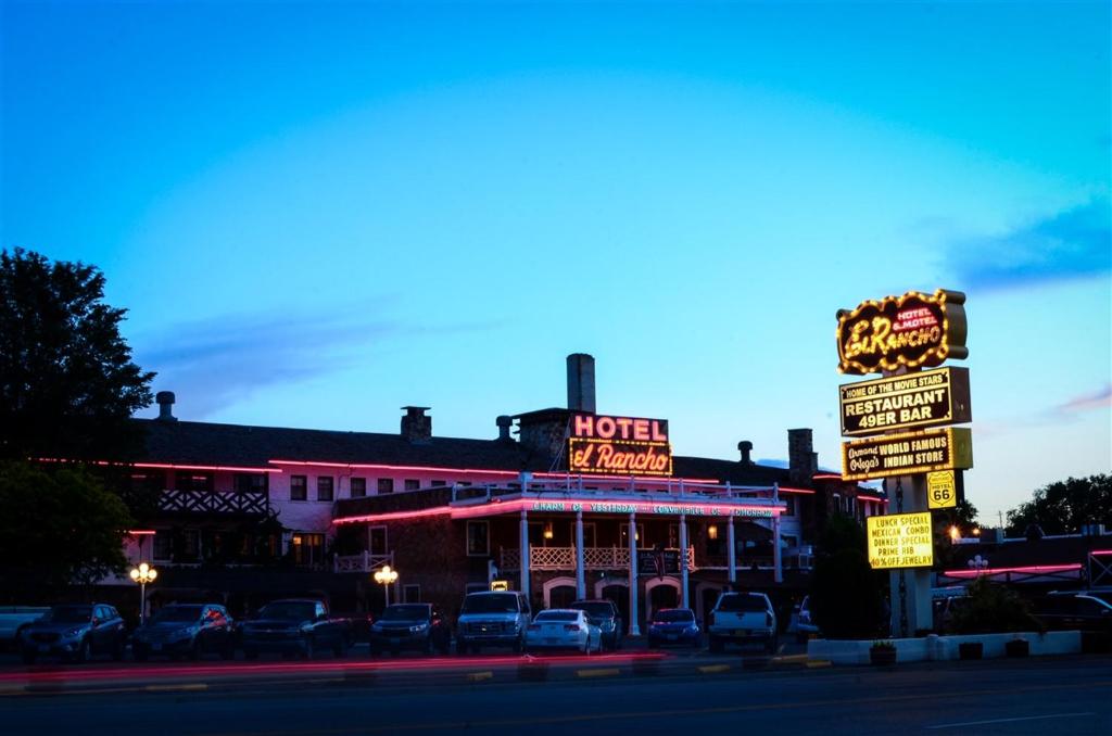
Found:
[[[842,478],[874,480],[973,467],[969,429],[946,427],[842,442]]]

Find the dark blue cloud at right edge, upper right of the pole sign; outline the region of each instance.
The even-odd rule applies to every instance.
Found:
[[[1112,270],[1108,195],[996,236],[952,239],[946,260],[969,289],[1003,289]]]

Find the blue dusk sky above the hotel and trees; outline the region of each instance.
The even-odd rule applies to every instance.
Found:
[[[837,464],[834,314],[967,292],[971,500],[1112,468],[1106,2],[4,2],[0,241],[190,419],[494,436],[598,360]]]

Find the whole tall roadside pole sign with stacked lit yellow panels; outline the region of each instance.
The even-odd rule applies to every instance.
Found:
[[[837,312],[838,371],[883,378],[840,387],[843,480],[883,479],[892,517],[868,521],[870,564],[892,569],[892,630],[933,628],[927,474],[973,467],[965,295],[939,289]],[[930,429],[929,429],[930,427]],[[939,428],[941,427],[941,428]],[[910,578],[910,584],[909,584]]]

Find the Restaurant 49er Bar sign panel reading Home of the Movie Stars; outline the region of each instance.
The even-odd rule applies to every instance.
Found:
[[[842,434],[962,425],[973,420],[969,368],[939,368],[841,386]]]

